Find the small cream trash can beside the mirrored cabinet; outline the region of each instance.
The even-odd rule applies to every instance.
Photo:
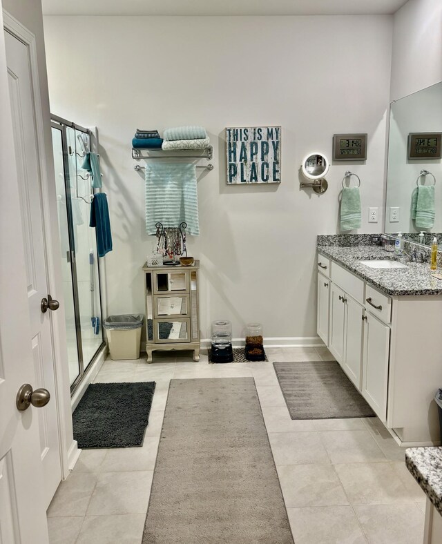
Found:
[[[140,358],[142,314],[109,315],[103,327],[107,331],[111,359]]]

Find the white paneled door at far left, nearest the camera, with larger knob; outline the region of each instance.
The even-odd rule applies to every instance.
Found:
[[[0,25],[3,19],[0,10]],[[48,542],[44,500],[39,408],[17,409],[20,387],[36,387],[35,338],[30,322],[30,292],[37,282],[36,262],[28,262],[26,224],[17,177],[8,71],[0,35],[0,542]],[[29,173],[30,174],[30,173]],[[32,175],[32,174],[30,174]],[[33,225],[30,227],[32,232]],[[31,276],[29,272],[31,271]],[[31,279],[31,281],[30,281]],[[40,349],[43,349],[41,347]],[[43,352],[41,352],[43,353]]]

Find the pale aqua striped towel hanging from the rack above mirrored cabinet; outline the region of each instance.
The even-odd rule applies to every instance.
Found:
[[[146,165],[146,233],[155,234],[155,223],[200,234],[195,164],[164,163]]]

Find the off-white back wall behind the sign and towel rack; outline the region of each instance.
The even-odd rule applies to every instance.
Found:
[[[315,243],[336,233],[348,168],[361,177],[363,226],[383,206],[392,17],[46,17],[52,113],[97,126],[114,251],[109,313],[143,312],[144,181],[133,171],[135,128],[202,124],[215,170],[200,173],[202,336],[215,318],[233,336],[258,320],[266,337],[316,336]],[[282,126],[280,186],[226,186],[224,128]],[[325,195],[300,191],[311,150],[334,133],[367,132],[366,164],[334,164]]]

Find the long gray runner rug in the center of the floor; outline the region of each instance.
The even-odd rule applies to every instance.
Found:
[[[253,378],[171,380],[142,544],[293,544]]]

